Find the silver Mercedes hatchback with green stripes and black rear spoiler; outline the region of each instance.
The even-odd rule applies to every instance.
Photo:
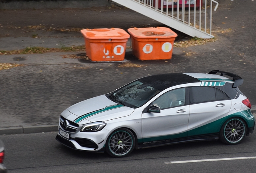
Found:
[[[76,150],[124,157],[132,150],[217,140],[233,145],[254,131],[243,79],[213,70],[139,78],[60,115],[56,139]]]

